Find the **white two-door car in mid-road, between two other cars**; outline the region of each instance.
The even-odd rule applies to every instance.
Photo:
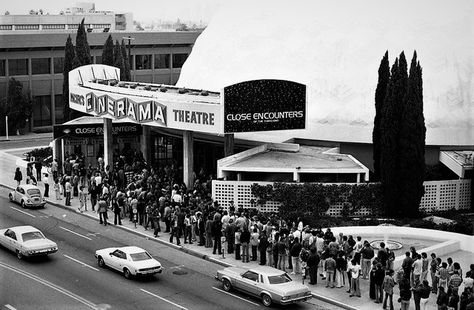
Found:
[[[108,266],[123,273],[125,278],[161,273],[163,267],[147,251],[136,247],[106,248],[95,252],[99,267]]]

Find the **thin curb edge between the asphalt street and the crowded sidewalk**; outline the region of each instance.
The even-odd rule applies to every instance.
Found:
[[[10,189],[10,190],[14,190],[14,188],[12,186],[8,186],[8,185],[5,185],[5,184],[1,184],[0,183],[0,187],[3,187],[3,188],[6,188],[6,189]],[[58,208],[61,208],[61,209],[65,209],[65,210],[68,210],[68,211],[71,211],[71,212],[74,212],[74,210],[72,208],[68,208],[62,204],[59,204],[57,202],[54,202],[54,201],[50,201],[49,199],[46,199],[46,202],[50,205],[53,205],[55,207],[58,207]],[[74,212],[78,215],[82,215],[82,216],[85,216],[85,217],[88,217],[90,219],[93,219],[95,221],[99,221],[95,216],[92,216],[90,214],[84,214],[84,213],[77,213],[77,212]],[[139,231],[135,231],[131,228],[128,228],[128,227],[124,227],[124,226],[120,226],[120,225],[111,225],[112,227],[115,227],[117,229],[121,229],[123,231],[127,231],[127,232],[130,232],[132,234],[135,234],[137,236],[140,236],[140,237],[145,237],[147,240],[151,240],[151,241],[154,241],[154,242],[158,242],[158,243],[161,243],[161,244],[164,244],[166,246],[169,246],[169,247],[172,247],[176,250],[179,250],[183,253],[186,253],[186,254],[189,254],[189,255],[192,255],[192,256],[195,256],[197,258],[200,258],[200,259],[204,259],[204,260],[207,260],[209,262],[212,262],[212,263],[215,263],[215,264],[218,264],[218,265],[221,265],[223,267],[234,267],[235,265],[233,264],[230,264],[230,263],[226,263],[226,262],[223,262],[219,259],[216,259],[214,257],[210,257],[209,255],[207,254],[202,254],[202,253],[199,253],[197,251],[194,251],[192,249],[188,249],[188,248],[185,248],[181,245],[176,245],[174,243],[170,243],[168,241],[165,241],[165,240],[161,240],[161,239],[158,239],[158,238],[153,238],[142,232],[139,232]],[[343,308],[343,309],[347,309],[347,310],[358,310],[358,308],[355,308],[355,307],[352,307],[352,306],[349,306],[349,305],[346,305],[344,303],[341,303],[337,300],[334,300],[332,298],[329,298],[329,297],[325,297],[325,296],[322,296],[322,295],[318,295],[316,293],[311,293],[311,295],[313,296],[313,298],[315,299],[319,299],[321,301],[324,301],[324,302],[327,302],[329,304],[332,304],[332,305],[335,305],[337,307],[340,307],[340,308]]]

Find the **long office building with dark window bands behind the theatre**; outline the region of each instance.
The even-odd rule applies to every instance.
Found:
[[[34,99],[30,124],[33,130],[51,129],[52,125],[63,122],[64,47],[68,35],[75,42],[76,31],[77,25],[69,32],[10,31],[0,34],[0,98],[6,96],[10,78],[21,81]],[[102,48],[109,34],[114,42],[133,38],[130,40],[132,80],[174,85],[200,32],[92,31],[87,40],[93,63],[101,63]]]

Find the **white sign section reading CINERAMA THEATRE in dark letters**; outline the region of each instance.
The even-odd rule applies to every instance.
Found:
[[[109,72],[107,70],[110,70]],[[186,101],[182,94],[155,94],[117,86],[88,82],[101,74],[101,79],[118,75],[114,67],[89,65],[69,73],[69,105],[89,115],[125,119],[138,124],[180,130],[219,133],[222,130],[219,103]],[[94,72],[94,76],[90,76]],[[125,92],[125,93],[123,93]],[[132,95],[127,92],[134,92]],[[201,98],[199,98],[201,99]]]

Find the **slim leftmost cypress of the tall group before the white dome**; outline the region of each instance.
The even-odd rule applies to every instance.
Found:
[[[388,51],[385,52],[379,66],[379,79],[375,90],[375,118],[374,129],[372,131],[373,159],[375,179],[380,178],[380,126],[382,119],[382,108],[387,93],[387,85],[390,80],[390,64],[388,61]]]

